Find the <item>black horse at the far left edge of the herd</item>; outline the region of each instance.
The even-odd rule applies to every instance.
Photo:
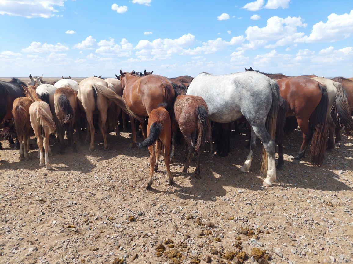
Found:
[[[0,81],[0,124],[7,125],[7,122],[13,118],[12,106],[16,98],[24,97],[24,90],[22,85],[24,82],[17,78],[12,78],[10,82]],[[12,136],[8,138],[10,147],[14,146]],[[0,142],[0,149],[2,149]]]

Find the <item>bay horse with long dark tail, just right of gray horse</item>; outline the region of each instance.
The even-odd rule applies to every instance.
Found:
[[[301,132],[303,143],[300,151],[294,158],[294,163],[299,163],[305,156],[305,150],[311,142],[311,163],[321,165],[325,153],[326,115],[328,111],[328,93],[326,86],[309,77],[288,77],[277,81],[281,96],[288,103],[286,117],[294,115]],[[297,126],[294,126],[296,128]],[[292,127],[292,129],[294,129]],[[290,132],[290,131],[287,131]],[[279,146],[279,159],[277,169],[283,166],[282,139],[277,139]]]

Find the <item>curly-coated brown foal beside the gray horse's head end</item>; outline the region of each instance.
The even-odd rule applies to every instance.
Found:
[[[211,133],[210,121],[208,120],[208,107],[205,100],[203,100],[200,96],[178,95],[174,103],[174,113],[172,119],[173,138],[170,159],[173,162],[175,136],[177,134],[177,126],[179,126],[187,144],[187,158],[183,169],[183,174],[187,174],[187,169],[189,168],[191,158],[196,151],[197,162],[195,177],[197,179],[201,179],[200,151],[203,143],[209,139]],[[195,132],[197,134],[196,142],[193,140]]]

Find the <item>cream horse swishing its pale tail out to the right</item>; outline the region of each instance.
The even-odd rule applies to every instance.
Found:
[[[109,148],[106,133],[106,121],[109,100],[119,105],[121,109],[128,115],[131,115],[133,118],[139,119],[137,115],[135,115],[129,109],[125,100],[122,99],[121,96],[113,92],[112,89],[108,88],[108,83],[106,81],[98,77],[89,77],[80,81],[77,97],[79,100],[80,107],[82,107],[84,112],[86,113],[87,124],[89,127],[89,130],[87,131],[86,135],[86,142],[90,142],[90,146],[88,149],[89,151],[94,150],[95,128],[93,125],[93,113],[95,109],[97,109],[100,114],[100,122],[98,122],[98,125],[103,136],[104,149]]]

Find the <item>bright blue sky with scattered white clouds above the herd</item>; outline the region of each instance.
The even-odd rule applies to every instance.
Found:
[[[0,76],[353,77],[353,1],[1,0]]]

